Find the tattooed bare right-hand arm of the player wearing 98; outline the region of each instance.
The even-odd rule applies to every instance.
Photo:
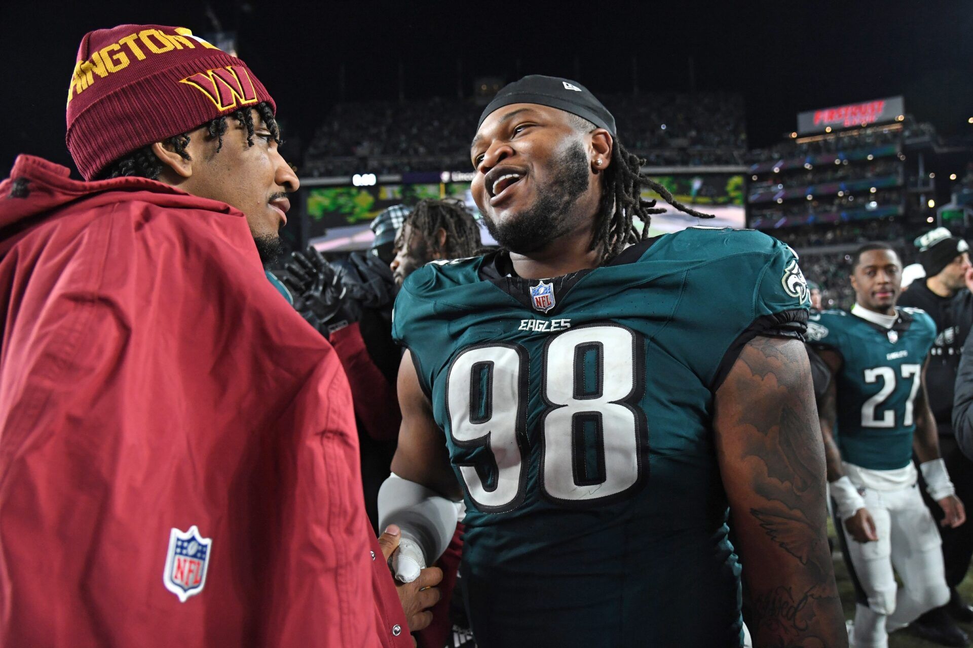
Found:
[[[828,549],[824,448],[797,340],[756,337],[716,392],[714,428],[755,646],[847,646]]]

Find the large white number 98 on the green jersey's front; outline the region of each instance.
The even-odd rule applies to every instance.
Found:
[[[644,342],[628,327],[589,324],[550,338],[541,358],[543,411],[539,486],[565,506],[624,497],[647,470]],[[529,358],[518,344],[464,349],[447,378],[452,442],[470,460],[458,462],[481,511],[517,508],[526,488]]]

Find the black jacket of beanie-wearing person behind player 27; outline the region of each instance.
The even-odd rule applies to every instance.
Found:
[[[960,290],[954,297],[940,297],[924,281],[913,284],[899,297],[900,306],[921,308],[936,323],[936,341],[929,352],[925,384],[929,407],[936,418],[940,434],[952,433],[953,401],[956,372],[963,342],[973,321],[973,297]]]

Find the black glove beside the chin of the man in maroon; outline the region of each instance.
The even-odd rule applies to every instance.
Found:
[[[323,335],[361,318],[361,303],[349,293],[347,270],[329,263],[313,246],[295,252],[284,268],[283,282],[295,295],[298,313]],[[361,292],[360,289],[356,289]]]

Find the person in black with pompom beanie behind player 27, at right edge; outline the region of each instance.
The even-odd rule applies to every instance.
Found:
[[[929,386],[929,406],[939,431],[941,456],[953,476],[956,495],[963,501],[973,501],[973,463],[957,447],[953,430],[954,386],[963,341],[969,331],[973,307],[969,305],[969,290],[965,278],[970,269],[969,246],[945,227],[937,227],[916,239],[919,263],[925,280],[917,280],[899,300],[902,306],[921,308],[936,324],[936,340],[929,352],[926,380]],[[964,305],[965,304],[965,308]],[[928,496],[926,505],[937,519],[942,519],[940,507]],[[943,536],[943,557],[946,561],[946,580],[950,586],[950,602],[943,608],[930,610],[913,624],[920,636],[944,645],[966,645],[958,641],[959,629],[955,621],[973,623],[973,607],[960,597],[956,586],[962,582],[973,558],[973,525],[940,529]],[[949,637],[953,637],[952,639]],[[952,642],[951,642],[952,641]]]

